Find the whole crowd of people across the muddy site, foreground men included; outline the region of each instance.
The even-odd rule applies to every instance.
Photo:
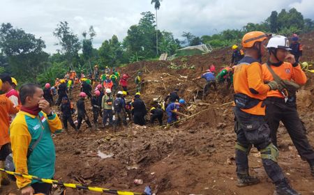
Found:
[[[217,84],[226,83],[234,88],[234,132],[237,134],[235,161],[237,186],[244,187],[260,182],[251,176],[248,154],[255,146],[261,153],[262,164],[267,176],[276,189],[274,194],[299,194],[294,190],[281,167],[278,165],[277,130],[279,123],[285,125],[294,146],[305,159],[314,176],[314,151],[306,137],[304,125],[297,113],[296,91],[306,83],[306,75],[299,64],[302,56],[298,36],[292,36],[292,44],[285,36],[270,36],[260,31],[246,33],[242,39],[242,49],[232,46],[232,62],[216,74],[214,65],[203,75],[205,79],[203,98]],[[269,59],[261,64],[262,56],[269,52]],[[142,72],[135,76],[135,88],[129,89],[128,74],[122,74],[106,67],[100,71],[95,65],[88,76],[74,70],[67,72],[63,79],[56,79],[53,86],[43,88],[36,84],[23,84],[17,91],[17,81],[9,75],[0,78],[0,168],[8,161],[6,169],[17,173],[30,174],[39,178],[54,177],[55,150],[52,135],[68,130],[68,123],[80,132],[82,123],[91,130],[111,128],[117,131],[120,125],[128,126],[128,120],[137,125],[146,125],[145,116],[150,115],[150,123],[165,128],[177,125],[178,116],[186,101],[179,97],[179,88],[170,92],[163,101],[155,101],[147,108],[141,98],[143,91]],[[78,100],[73,100],[73,88],[80,86]],[[130,91],[135,95],[131,97]],[[87,100],[91,102],[93,124],[89,120]],[[54,113],[56,105],[60,116]],[[73,116],[77,116],[73,120]],[[60,117],[60,118],[59,118]],[[101,117],[102,120],[98,120]],[[10,133],[9,133],[10,132]],[[40,163],[38,163],[40,162]],[[13,166],[12,166],[13,164]],[[6,173],[0,174],[1,185],[8,185]],[[17,187],[24,194],[50,194],[51,184],[16,176]]]

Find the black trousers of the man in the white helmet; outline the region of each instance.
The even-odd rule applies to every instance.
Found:
[[[267,98],[266,120],[271,130],[271,141],[277,146],[279,122],[283,122],[302,159],[314,159],[313,147],[308,142],[304,126],[295,104],[286,104],[283,98]]]

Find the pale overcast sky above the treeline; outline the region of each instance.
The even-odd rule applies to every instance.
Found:
[[[155,13],[151,0],[0,0],[0,23],[33,33],[45,40],[46,52],[54,53],[57,38],[52,32],[60,21],[82,38],[83,31],[93,25],[97,33],[94,47],[117,35],[126,36],[128,28],[137,24],[140,13]],[[248,22],[262,22],[282,8],[297,8],[305,18],[314,20],[314,0],[163,0],[158,10],[158,29],[171,31],[181,38],[183,31],[195,36],[211,35],[224,29],[240,29]]]

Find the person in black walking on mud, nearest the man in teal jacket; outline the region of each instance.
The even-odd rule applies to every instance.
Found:
[[[61,118],[64,130],[68,133],[68,123],[70,123],[71,127],[73,127],[75,132],[77,132],[77,127],[75,126],[72,118],[73,108],[71,108],[71,103],[67,97],[62,98],[60,110],[62,113]]]

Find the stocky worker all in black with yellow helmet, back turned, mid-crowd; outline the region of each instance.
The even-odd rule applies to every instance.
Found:
[[[147,114],[146,105],[141,99],[140,92],[135,93],[134,101],[132,102],[133,121],[136,125],[145,125],[145,115]]]

